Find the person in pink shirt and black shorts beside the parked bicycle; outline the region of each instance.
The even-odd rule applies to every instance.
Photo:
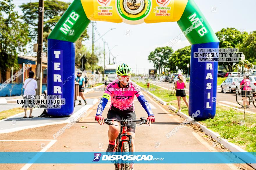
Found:
[[[250,95],[250,92],[252,90],[249,75],[246,75],[243,77],[243,80],[240,83],[240,89],[242,89],[242,98],[243,98],[243,106],[242,107],[245,107],[245,101],[246,101],[246,105],[247,105],[246,108],[249,108],[250,103],[248,100],[248,96]]]

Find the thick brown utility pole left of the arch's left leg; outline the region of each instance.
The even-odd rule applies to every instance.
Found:
[[[42,94],[42,45],[43,45],[43,31],[44,31],[44,0],[39,0],[38,5],[38,36],[37,36],[37,56],[36,56],[36,94]]]

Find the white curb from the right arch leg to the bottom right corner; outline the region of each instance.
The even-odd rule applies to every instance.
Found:
[[[213,139],[215,139],[217,142],[221,143],[223,145],[223,147],[229,149],[231,152],[246,152],[245,150],[243,150],[241,147],[228,142],[226,139],[221,138],[221,135],[208,129],[206,126],[201,125],[199,122],[197,122],[196,120],[192,119],[190,116],[184,114],[183,112],[179,111],[177,112],[177,115],[179,115],[180,117],[186,119],[189,123],[192,123],[194,125],[199,125],[202,129],[202,131],[206,134],[211,136]],[[247,152],[246,152],[247,153]],[[248,154],[244,154],[243,156],[244,159],[242,160],[251,160],[251,159],[255,159],[255,157],[250,157],[248,156]],[[254,169],[256,169],[256,164],[250,164],[248,163],[251,167],[253,167]]]

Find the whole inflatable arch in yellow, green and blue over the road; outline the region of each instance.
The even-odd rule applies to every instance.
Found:
[[[192,45],[189,115],[199,110],[197,120],[215,116],[218,63],[198,62],[193,53],[198,48],[218,48],[219,40],[193,0],[74,0],[48,37],[47,92],[66,100],[61,109],[47,109],[49,115],[73,113],[74,79],[69,77],[75,70],[75,41],[90,20],[128,24],[177,21]]]

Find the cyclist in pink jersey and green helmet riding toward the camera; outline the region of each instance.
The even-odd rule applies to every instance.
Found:
[[[148,114],[147,125],[151,125],[155,121],[154,114],[148,104],[147,100],[141,93],[139,87],[130,81],[131,78],[131,68],[122,63],[116,68],[116,74],[118,79],[109,83],[104,92],[99,106],[97,108],[96,120],[100,125],[104,125],[104,118],[102,116],[102,111],[104,110],[109,98],[111,98],[111,105],[107,114],[109,119],[128,119],[135,120],[136,115],[134,111],[134,95],[138,98],[142,107]],[[112,122],[114,125],[120,125],[118,122]],[[109,146],[106,152],[113,152],[115,147],[115,139],[118,137],[120,127],[109,125]],[[135,138],[135,126],[136,122],[131,123],[127,126],[127,134],[132,136],[131,139],[131,151],[135,152],[134,138]],[[133,164],[131,164],[131,169],[133,169]]]

